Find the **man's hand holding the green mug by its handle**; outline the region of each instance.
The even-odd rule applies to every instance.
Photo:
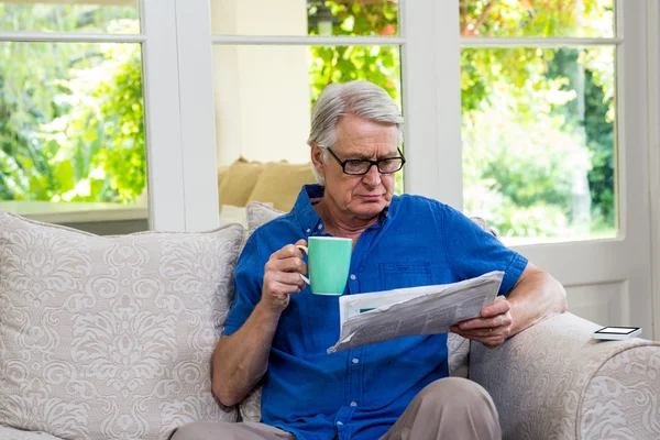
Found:
[[[296,244],[287,244],[272,254],[264,266],[261,302],[268,310],[282,312],[289,304],[289,295],[305,288],[306,283],[300,275],[307,274],[307,264],[297,245],[306,246],[307,242],[298,240]]]

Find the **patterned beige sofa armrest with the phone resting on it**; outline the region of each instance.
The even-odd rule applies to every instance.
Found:
[[[660,343],[596,341],[572,314],[498,349],[471,344],[470,378],[488,391],[505,439],[660,438]]]

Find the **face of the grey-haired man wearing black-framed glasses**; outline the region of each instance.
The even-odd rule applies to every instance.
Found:
[[[373,122],[354,116],[342,117],[337,125],[332,152],[341,160],[377,161],[398,156],[398,130],[395,124]],[[381,174],[372,166],[365,175],[344,174],[332,157],[320,162],[320,148],[312,160],[326,176],[326,197],[333,205],[361,219],[371,219],[385,209],[394,193],[394,174]],[[320,165],[320,166],[319,166]]]

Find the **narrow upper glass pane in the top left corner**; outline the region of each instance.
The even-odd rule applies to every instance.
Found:
[[[82,2],[0,0],[0,31],[140,33],[138,0],[78,3]]]

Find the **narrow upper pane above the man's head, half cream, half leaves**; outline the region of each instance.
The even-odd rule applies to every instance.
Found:
[[[398,34],[398,0],[211,0],[218,35]]]

